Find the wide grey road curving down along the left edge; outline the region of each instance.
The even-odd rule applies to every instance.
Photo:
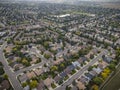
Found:
[[[0,48],[0,61],[4,65],[5,73],[8,75],[11,85],[13,86],[14,90],[23,90],[21,84],[17,80],[17,77],[14,72],[12,72],[10,66],[8,65],[7,61],[5,60],[3,49],[7,46],[7,42],[5,42]]]

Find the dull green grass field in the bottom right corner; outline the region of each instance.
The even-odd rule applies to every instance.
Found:
[[[120,65],[112,78],[104,85],[102,90],[120,90]]]

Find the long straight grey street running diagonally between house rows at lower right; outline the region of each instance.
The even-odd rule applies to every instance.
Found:
[[[99,54],[99,56],[97,56],[96,58],[94,58],[90,63],[88,63],[86,66],[84,66],[81,70],[79,70],[76,74],[74,74],[71,78],[69,78],[62,85],[60,85],[59,87],[57,87],[55,90],[65,90],[66,86],[70,85],[73,82],[73,80],[79,78],[84,73],[84,71],[86,71],[89,68],[89,66],[92,66],[95,62],[97,62],[99,59],[101,59],[102,55],[107,55],[107,54],[108,54],[108,51],[103,50]]]

